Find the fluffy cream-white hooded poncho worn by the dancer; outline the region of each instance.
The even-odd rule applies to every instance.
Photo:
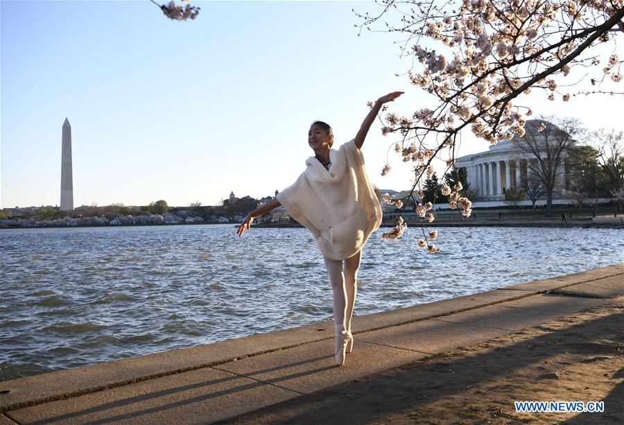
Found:
[[[306,171],[277,200],[312,232],[325,257],[343,260],[361,250],[381,225],[381,205],[355,139],[329,150],[329,160],[328,171],[316,157],[306,159]]]

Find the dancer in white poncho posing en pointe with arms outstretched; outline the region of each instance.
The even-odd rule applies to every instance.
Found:
[[[338,150],[331,148],[331,127],[322,121],[312,123],[308,144],[315,155],[306,160],[306,171],[275,199],[250,212],[238,229],[240,237],[255,217],[283,205],[291,217],[312,232],[323,254],[333,292],[336,365],[343,365],[345,354],[353,349],[351,319],[362,248],[382,218],[361,148],[381,105],[403,93],[392,92],[377,99],[355,139]]]

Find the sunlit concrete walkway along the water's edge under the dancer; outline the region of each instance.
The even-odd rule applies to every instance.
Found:
[[[0,425],[196,424],[354,382],[457,347],[620,302],[624,265],[354,318],[333,360],[333,323],[0,382]],[[621,300],[621,299],[620,299]]]

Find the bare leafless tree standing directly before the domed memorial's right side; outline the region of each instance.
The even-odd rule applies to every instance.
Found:
[[[527,173],[537,177],[546,195],[546,216],[553,216],[553,193],[557,181],[564,177],[566,151],[576,143],[575,135],[582,132],[575,119],[531,120],[526,123],[522,137],[514,137],[514,144],[528,153]]]

